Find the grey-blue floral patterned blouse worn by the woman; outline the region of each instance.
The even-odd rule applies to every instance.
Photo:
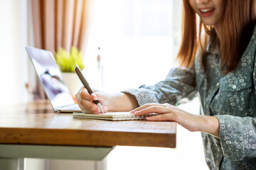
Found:
[[[256,169],[256,30],[234,72],[223,74],[220,52],[213,47],[216,33],[206,48],[206,67],[201,57],[191,69],[171,69],[154,86],[124,93],[144,103],[170,103],[199,96],[202,115],[214,115],[220,123],[220,139],[202,133],[206,163],[210,169]]]

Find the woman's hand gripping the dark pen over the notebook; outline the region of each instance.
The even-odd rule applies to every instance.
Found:
[[[100,101],[104,113],[109,111],[110,107],[110,94],[106,94],[103,91],[95,91],[93,94],[89,94],[87,89],[82,87],[78,94],[75,95],[78,101],[78,106],[83,113],[100,113],[100,108],[93,101]]]

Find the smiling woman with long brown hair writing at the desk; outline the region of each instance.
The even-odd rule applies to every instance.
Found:
[[[176,121],[203,132],[210,169],[256,169],[255,0],[183,0],[183,15],[178,60],[184,67],[171,69],[154,86],[119,94],[90,96],[82,88],[79,106],[100,113],[92,103],[99,100],[105,111],[159,113],[146,120]],[[197,94],[200,116],[176,108]]]

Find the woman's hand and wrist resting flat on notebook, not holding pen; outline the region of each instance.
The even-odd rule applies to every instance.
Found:
[[[135,115],[158,113],[159,115],[147,117],[146,120],[175,121],[191,132],[201,131],[216,137],[219,136],[218,118],[215,118],[214,116],[193,115],[183,111],[181,108],[172,106],[169,103],[148,103],[134,109],[131,113],[134,113]]]

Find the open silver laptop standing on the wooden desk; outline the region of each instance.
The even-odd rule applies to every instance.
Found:
[[[26,46],[26,51],[53,110],[56,113],[82,112],[61,77],[53,53],[28,46]]]

